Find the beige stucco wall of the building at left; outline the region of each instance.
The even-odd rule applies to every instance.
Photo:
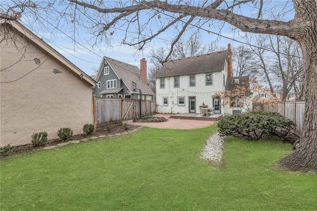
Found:
[[[1,43],[0,146],[31,143],[40,131],[58,138],[61,127],[83,133],[83,125],[93,122],[92,86],[33,43],[16,39],[17,48],[12,41]]]

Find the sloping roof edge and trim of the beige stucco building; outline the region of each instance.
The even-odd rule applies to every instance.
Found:
[[[54,50],[50,45],[45,43],[41,38],[39,38],[37,35],[35,35],[33,32],[31,32],[29,29],[27,29],[25,26],[23,26],[18,21],[14,20],[4,20],[0,19],[0,24],[9,24],[14,29],[16,29],[18,32],[20,32],[23,36],[28,38],[31,42],[33,42],[35,45],[43,49],[43,51],[49,53],[51,56],[53,56],[56,60],[60,61],[62,64],[64,64],[66,67],[69,68],[70,71],[74,72],[75,75],[77,75],[82,80],[85,80],[92,86],[96,85],[96,81],[94,81],[89,75],[87,75],[85,72],[83,72],[81,69],[79,69],[75,64],[70,62],[67,58],[65,58],[63,55],[58,53],[56,50]]]

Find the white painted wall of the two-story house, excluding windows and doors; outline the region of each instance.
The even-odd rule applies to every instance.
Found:
[[[165,88],[160,89],[159,79],[156,80],[157,104],[159,113],[188,113],[189,112],[189,97],[196,98],[196,113],[199,113],[199,106],[203,104],[212,107],[212,96],[216,92],[224,90],[223,75],[226,78],[226,71],[213,72],[213,85],[205,85],[205,73],[196,74],[196,86],[189,86],[189,75],[180,76],[180,88],[174,88],[174,77],[165,77]],[[163,97],[168,97],[168,106],[163,106]],[[185,106],[177,105],[178,97],[185,98]],[[224,109],[221,106],[221,113]]]

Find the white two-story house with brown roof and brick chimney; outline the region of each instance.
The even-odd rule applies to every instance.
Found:
[[[159,113],[199,113],[208,105],[214,113],[224,114],[223,92],[232,76],[231,49],[168,61],[156,74]]]

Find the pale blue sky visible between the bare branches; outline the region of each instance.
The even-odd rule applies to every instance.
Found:
[[[6,1],[14,2],[12,0],[1,0],[1,3],[5,3]],[[111,1],[106,1],[106,3],[107,2],[113,3],[114,1],[111,0]],[[279,2],[279,1],[276,1],[276,2]],[[2,7],[1,10],[4,10],[4,7]],[[252,8],[250,7],[241,8],[240,12],[244,13],[244,15],[246,14],[250,15],[252,12]],[[52,17],[54,18],[54,16]],[[58,16],[56,17],[58,18]],[[147,21],[146,20],[147,18],[148,16],[145,16],[145,15],[141,16],[141,19],[144,19],[144,21]],[[163,33],[163,35],[160,36],[159,38],[153,39],[151,41],[151,44],[147,48],[145,48],[142,52],[136,53],[133,48],[129,46],[120,45],[120,41],[122,40],[124,36],[123,30],[115,30],[114,35],[111,36],[112,47],[108,47],[105,42],[100,42],[98,43],[98,48],[97,47],[92,48],[91,45],[89,45],[89,43],[91,44],[92,41],[89,41],[89,40],[90,39],[94,40],[94,35],[89,33],[84,28],[78,28],[78,31],[76,32],[76,34],[74,33],[75,34],[75,40],[74,40],[74,37],[73,37],[74,34],[72,30],[65,27],[65,25],[61,25],[61,27],[58,27],[58,30],[57,30],[57,29],[54,29],[55,26],[52,24],[53,22],[51,23],[50,20],[44,20],[42,22],[43,24],[42,26],[44,26],[44,28],[54,29],[53,30],[54,32],[50,33],[49,30],[48,31],[42,30],[41,26],[37,26],[36,24],[30,24],[32,23],[32,19],[31,19],[31,16],[29,15],[23,15],[20,22],[24,24],[27,28],[29,28],[37,36],[42,38],[46,43],[48,43],[56,51],[58,51],[63,56],[65,56],[69,61],[71,61],[76,66],[78,66],[81,70],[86,72],[88,75],[95,74],[94,70],[98,70],[103,56],[108,56],[113,59],[120,60],[120,61],[132,64],[138,67],[140,67],[140,59],[146,58],[148,60],[148,69],[149,69],[151,67],[151,64],[149,63],[151,49],[159,49],[160,47],[168,48],[166,47],[165,43],[170,44],[175,36],[174,35],[175,31],[177,33],[177,30],[179,30],[180,28],[180,26],[178,28],[175,27],[174,31],[170,30],[169,32]],[[157,30],[156,24],[159,24],[159,23],[152,22],[151,24],[150,24],[150,29],[155,32]],[[218,47],[227,48],[228,43],[231,43],[231,46],[236,46],[236,47],[241,45],[240,43],[237,43],[231,40],[231,39],[235,39],[235,40],[242,41],[241,38],[239,38],[239,33],[241,33],[241,31],[239,30],[232,31],[231,27],[228,24],[225,24],[224,26],[220,25],[220,27],[222,27],[221,35],[224,37],[219,37],[215,34],[208,33],[204,30],[200,30],[202,43],[209,44],[217,39]],[[219,33],[219,23],[214,23],[214,25],[211,25],[209,27],[205,25],[205,29],[215,33]],[[146,32],[142,32],[142,33],[146,33]],[[189,35],[190,35],[189,33],[185,34],[185,36],[189,36]]]

